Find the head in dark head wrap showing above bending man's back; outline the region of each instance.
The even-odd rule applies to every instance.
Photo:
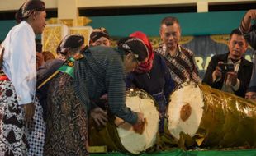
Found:
[[[105,28],[101,27],[92,30],[90,34],[90,46],[111,46],[110,37]]]

